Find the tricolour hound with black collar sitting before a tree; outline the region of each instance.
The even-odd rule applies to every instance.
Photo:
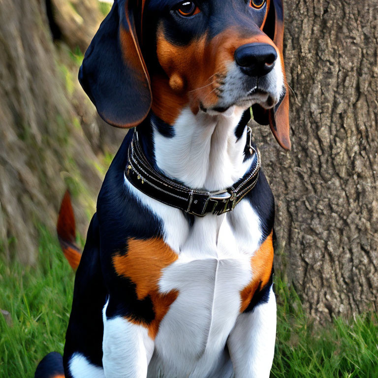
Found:
[[[38,377],[269,377],[275,206],[248,123],[290,149],[283,32],[282,0],[114,2],[79,80],[134,130],[82,255],[64,197],[58,234],[80,264],[63,361]]]

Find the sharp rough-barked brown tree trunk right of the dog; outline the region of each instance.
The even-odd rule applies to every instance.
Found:
[[[378,307],[378,3],[285,1],[292,151],[254,127],[284,270],[324,321]]]

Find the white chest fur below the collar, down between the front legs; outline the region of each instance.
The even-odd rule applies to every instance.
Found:
[[[185,377],[186,371],[190,377],[206,377],[214,370],[212,364],[221,363],[240,314],[241,291],[252,278],[254,252],[250,238],[238,238],[231,221],[230,217],[197,220],[178,260],[163,271],[160,292],[179,293],[155,340],[153,365],[160,365],[165,375],[173,374],[170,360],[182,361],[182,371],[175,373],[178,377]],[[257,245],[258,228],[254,235]]]

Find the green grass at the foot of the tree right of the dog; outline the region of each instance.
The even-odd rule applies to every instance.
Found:
[[[314,327],[293,288],[275,280],[277,342],[271,377],[378,377],[378,315],[334,318]]]

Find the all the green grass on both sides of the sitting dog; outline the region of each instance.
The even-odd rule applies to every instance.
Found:
[[[0,259],[0,377],[33,377],[48,352],[63,351],[74,275],[56,238],[43,228],[36,267]],[[276,354],[271,377],[378,377],[378,316],[334,319],[326,328],[312,325],[292,288],[278,278]],[[221,377],[220,377],[221,378]]]

